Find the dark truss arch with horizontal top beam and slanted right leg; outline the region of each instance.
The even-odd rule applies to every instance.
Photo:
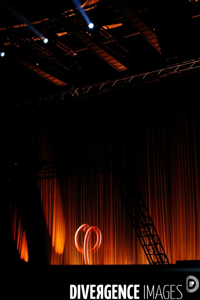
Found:
[[[169,263],[137,183],[124,165],[123,154],[93,155],[76,159],[73,163],[66,161],[61,166],[43,159],[40,165],[42,167],[38,170],[38,179],[112,171],[118,185],[119,195],[148,262],[150,264]]]

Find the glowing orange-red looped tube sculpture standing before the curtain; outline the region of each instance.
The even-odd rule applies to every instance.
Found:
[[[101,233],[100,230],[96,227],[96,226],[91,226],[90,228],[88,228],[89,226],[87,224],[83,224],[81,225],[77,231],[75,232],[75,246],[78,249],[78,251],[81,254],[84,254],[84,262],[85,264],[89,263],[89,258],[88,258],[88,252],[90,253],[94,253],[98,250],[100,243],[101,243]],[[80,231],[83,229],[84,232],[86,232],[85,237],[84,237],[84,245],[83,248],[79,245],[78,242],[78,235],[80,233]],[[88,249],[88,239],[89,239],[89,234],[94,231],[96,233],[97,239],[96,239],[96,243],[94,245],[93,248]]]

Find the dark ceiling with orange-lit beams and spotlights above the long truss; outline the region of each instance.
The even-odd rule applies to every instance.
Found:
[[[200,57],[199,0],[81,3],[92,30],[70,0],[0,0],[1,91],[12,104]]]

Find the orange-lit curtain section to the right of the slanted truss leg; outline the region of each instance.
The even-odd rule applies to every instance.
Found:
[[[139,137],[143,145],[137,147],[134,169],[169,261],[175,263],[200,257],[199,98],[163,106],[146,111],[145,139]]]

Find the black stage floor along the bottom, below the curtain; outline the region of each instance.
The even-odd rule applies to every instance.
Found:
[[[24,263],[7,266],[3,281],[9,285],[6,293],[10,296],[196,300],[200,288],[191,290],[200,282],[200,261],[178,261],[168,265],[39,266]]]

